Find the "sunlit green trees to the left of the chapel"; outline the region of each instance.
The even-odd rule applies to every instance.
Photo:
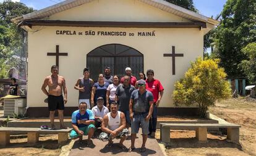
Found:
[[[30,12],[33,9],[20,2],[0,3],[0,78],[6,77],[11,67],[25,71],[27,32],[12,23],[11,19]]]

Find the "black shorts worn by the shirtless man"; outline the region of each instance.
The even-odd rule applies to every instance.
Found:
[[[64,110],[64,99],[63,96],[48,96],[48,109],[49,111]]]

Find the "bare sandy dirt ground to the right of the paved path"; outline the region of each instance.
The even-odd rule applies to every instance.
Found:
[[[228,99],[216,103],[210,113],[224,120],[241,125],[240,142],[226,141],[224,134],[207,135],[207,144],[195,139],[195,131],[171,131],[172,143],[166,147],[167,155],[256,155],[256,100],[249,98]],[[159,131],[156,138],[160,139]],[[179,139],[177,139],[179,138]]]

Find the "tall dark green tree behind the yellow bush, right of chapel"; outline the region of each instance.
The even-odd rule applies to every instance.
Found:
[[[249,60],[242,49],[256,42],[256,1],[228,0],[221,17],[220,25],[213,34],[213,55],[220,59],[220,65],[228,76],[247,76],[239,64],[242,60]]]

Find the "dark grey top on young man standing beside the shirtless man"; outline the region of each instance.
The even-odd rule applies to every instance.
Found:
[[[85,89],[85,91],[79,91],[79,99],[91,99],[93,84],[94,82],[90,78],[87,80],[85,80],[84,78],[80,78],[79,87]]]

